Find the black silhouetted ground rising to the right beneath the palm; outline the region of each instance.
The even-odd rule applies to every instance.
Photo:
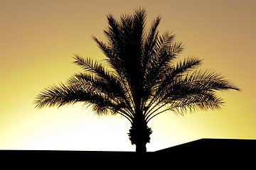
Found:
[[[183,145],[161,149],[156,152],[137,154],[136,152],[88,152],[88,151],[32,151],[0,150],[1,164],[9,166],[28,166],[68,168],[94,166],[122,168],[135,164],[181,167],[250,167],[256,164],[256,140],[201,139]],[[171,166],[170,166],[171,165]],[[134,166],[137,167],[137,166]],[[32,166],[33,168],[33,166]],[[81,169],[81,168],[78,168]],[[82,168],[85,169],[85,168]]]

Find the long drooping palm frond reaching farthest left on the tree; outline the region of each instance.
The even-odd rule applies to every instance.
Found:
[[[80,84],[81,85],[81,84]],[[92,106],[92,111],[97,115],[106,115],[109,113],[117,114],[118,111],[122,113],[129,120],[132,119],[132,114],[127,112],[124,103],[118,102],[115,98],[111,98],[103,93],[95,91],[90,86],[80,86],[79,84],[59,86],[50,86],[41,91],[36,96],[36,108],[64,106],[82,102],[84,106]]]

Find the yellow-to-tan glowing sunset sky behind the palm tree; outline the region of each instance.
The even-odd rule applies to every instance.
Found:
[[[203,58],[203,68],[242,89],[219,93],[221,111],[152,119],[148,151],[206,137],[256,139],[256,1],[0,0],[0,149],[134,151],[119,115],[99,118],[80,104],[38,110],[33,99],[82,71],[73,54],[104,59],[90,36],[105,40],[107,13],[118,18],[139,6],[147,26],[160,15],[160,33],[174,31],[186,45],[181,56]]]

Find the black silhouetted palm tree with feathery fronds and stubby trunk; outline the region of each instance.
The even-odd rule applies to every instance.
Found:
[[[146,152],[152,132],[148,123],[156,115],[220,109],[223,99],[216,91],[240,90],[221,74],[196,69],[202,63],[197,57],[176,62],[181,42],[174,42],[172,33],[159,35],[160,17],[145,30],[145,18],[142,8],[119,21],[108,15],[107,42],[92,36],[107,57],[107,66],[75,55],[75,64],[84,72],[41,91],[36,107],[82,102],[98,115],[122,115],[132,125],[128,133],[132,145],[137,152]]]

